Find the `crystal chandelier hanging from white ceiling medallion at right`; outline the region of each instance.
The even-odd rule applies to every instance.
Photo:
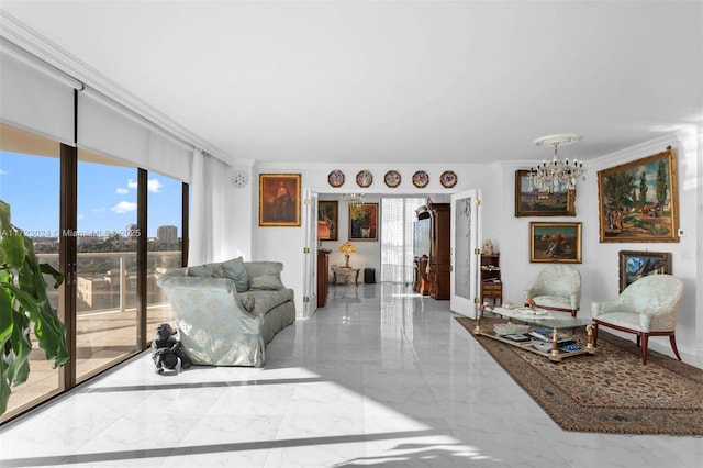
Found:
[[[550,163],[543,160],[535,169],[529,168],[527,179],[529,190],[537,189],[540,192],[561,192],[576,189],[576,181],[581,178],[585,180],[585,169],[583,163],[576,158],[572,163],[569,159],[559,159],[557,149],[559,146],[570,145],[581,140],[581,136],[573,133],[543,136],[535,140],[537,146],[553,146],[554,158]]]

